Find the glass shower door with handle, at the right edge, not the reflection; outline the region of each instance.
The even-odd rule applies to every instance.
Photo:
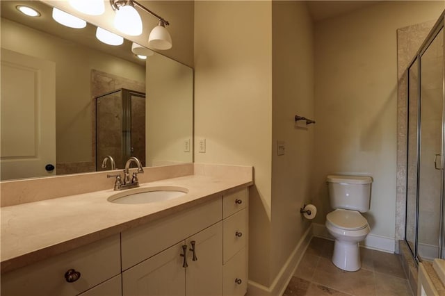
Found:
[[[435,156],[442,154],[444,140],[442,135],[443,46],[444,30],[442,28],[421,56],[417,255],[426,260],[439,257],[441,238],[443,174],[441,170],[435,168]]]

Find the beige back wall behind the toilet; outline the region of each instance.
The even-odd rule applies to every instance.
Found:
[[[396,29],[437,19],[443,9],[443,1],[380,1],[316,23],[316,222],[331,211],[327,174],[369,174],[371,234],[394,238]]]

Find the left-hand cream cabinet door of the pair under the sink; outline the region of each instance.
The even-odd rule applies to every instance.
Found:
[[[123,295],[185,296],[182,245],[184,241],[124,271]]]

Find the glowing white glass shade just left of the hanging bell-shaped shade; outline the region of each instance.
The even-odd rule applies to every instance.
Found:
[[[130,36],[142,34],[142,19],[136,9],[130,5],[121,6],[116,10],[114,26],[120,32]]]

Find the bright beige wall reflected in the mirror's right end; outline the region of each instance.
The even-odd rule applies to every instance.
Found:
[[[146,73],[147,166],[193,162],[193,69],[154,54]]]

